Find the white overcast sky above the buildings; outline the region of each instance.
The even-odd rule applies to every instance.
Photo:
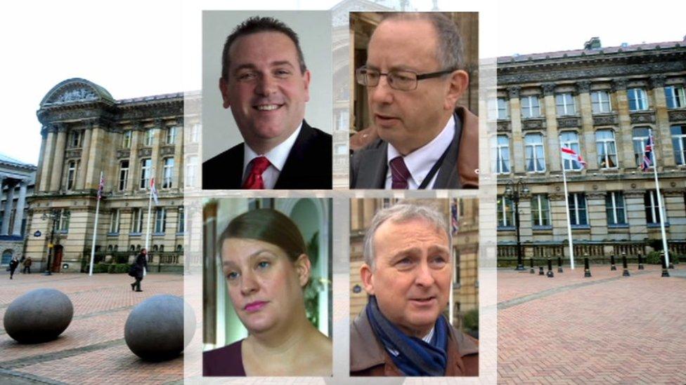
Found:
[[[327,9],[337,2],[3,1],[0,153],[37,163],[41,127],[36,110],[48,90],[65,79],[88,79],[115,99],[199,90],[202,9]],[[431,0],[410,4],[420,11],[433,6]],[[600,36],[603,46],[619,46],[680,41],[686,34],[682,1],[475,4],[438,1],[442,10],[481,11],[481,33],[492,37],[481,39],[483,58],[583,48],[591,36]]]

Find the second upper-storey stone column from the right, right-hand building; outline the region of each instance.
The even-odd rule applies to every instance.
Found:
[[[631,130],[631,116],[629,115],[629,101],[626,95],[626,79],[614,79],[612,82],[617,106],[617,123],[614,140],[617,148],[617,166],[619,168],[635,169],[633,158],[633,132]]]

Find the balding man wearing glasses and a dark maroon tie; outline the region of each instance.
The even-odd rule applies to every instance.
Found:
[[[478,187],[478,119],[455,108],[469,85],[463,67],[460,34],[445,15],[382,20],[355,74],[373,116],[366,134],[378,139],[353,154],[352,189]]]

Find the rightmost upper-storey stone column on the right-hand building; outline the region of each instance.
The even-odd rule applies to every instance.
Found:
[[[655,151],[658,153],[657,164],[659,167],[676,166],[669,114],[667,112],[667,98],[664,94],[664,81],[664,75],[650,77],[650,86],[652,87],[653,100],[655,101],[655,128],[653,135],[655,137]],[[658,168],[658,170],[660,169]]]

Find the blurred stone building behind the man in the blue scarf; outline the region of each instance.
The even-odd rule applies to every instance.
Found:
[[[364,262],[363,239],[372,218],[381,208],[399,201],[396,198],[363,198],[350,201],[350,319],[364,309],[368,296],[362,285],[360,267]],[[428,199],[420,204],[432,205],[450,220],[454,206],[456,232],[453,233],[453,325],[462,316],[479,309],[478,248],[479,201],[475,198]]]

